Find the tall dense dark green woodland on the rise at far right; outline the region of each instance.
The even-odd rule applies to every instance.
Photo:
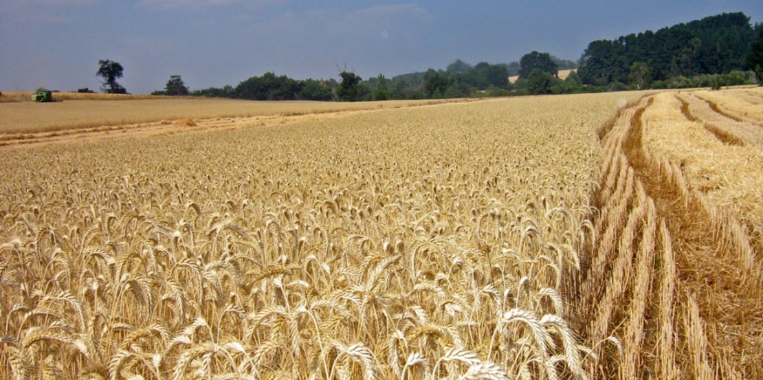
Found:
[[[637,62],[646,63],[655,80],[747,69],[745,58],[755,35],[749,17],[739,12],[596,40],[583,53],[578,76],[588,85],[627,83]]]

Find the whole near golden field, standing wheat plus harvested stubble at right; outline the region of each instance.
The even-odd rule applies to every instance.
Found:
[[[0,378],[759,378],[761,98],[0,147]]]

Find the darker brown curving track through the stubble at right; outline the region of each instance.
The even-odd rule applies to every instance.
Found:
[[[642,114],[651,105],[652,101],[646,101],[633,113],[622,149],[634,178],[642,183],[646,195],[654,201],[658,219],[664,220],[670,231],[676,268],[674,326],[681,326],[688,298],[696,299],[699,308],[702,323],[697,326],[703,327],[703,331],[685,322],[676,330],[678,368],[683,376],[691,373],[694,378],[706,377],[708,373],[722,378],[763,378],[761,280],[745,276],[694,191],[688,196],[682,194],[674,184],[666,182],[664,168],[649,160],[645,153],[648,147],[642,139],[648,126],[642,121]],[[674,167],[681,170],[680,166]],[[759,259],[756,262],[759,265]],[[655,271],[661,269],[656,260]],[[652,285],[652,300],[657,299],[659,286],[657,282]],[[649,342],[651,335],[649,344],[658,345],[655,337],[659,336],[659,327],[652,323],[656,320],[655,303],[652,301],[652,312],[645,315],[648,329],[645,341]],[[707,341],[707,356],[697,359],[697,353],[691,352],[691,340],[700,333]]]

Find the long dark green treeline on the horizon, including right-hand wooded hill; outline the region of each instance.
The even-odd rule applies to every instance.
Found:
[[[337,82],[335,79],[297,80],[266,72],[235,87],[226,85],[190,94],[251,100],[372,101],[717,88],[755,84],[761,80],[763,63],[757,63],[759,59],[754,57],[763,53],[753,52],[754,46],[761,49],[761,40],[763,25],[753,27],[750,19],[740,12],[656,32],[629,34],[617,40],[596,40],[588,45],[578,63],[533,51],[519,62],[482,62],[472,66],[456,60],[444,70],[429,69],[392,78],[379,74],[362,80],[353,72],[344,71],[340,72],[341,81]],[[562,80],[558,76],[560,69],[577,70]],[[519,79],[511,83],[510,76],[519,76]]]

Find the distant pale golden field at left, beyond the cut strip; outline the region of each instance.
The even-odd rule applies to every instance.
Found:
[[[14,94],[18,93],[11,93],[8,96],[14,96]],[[31,92],[25,94],[31,94]],[[89,98],[85,95],[89,96]],[[0,114],[2,114],[2,118],[0,118],[0,134],[39,133],[72,128],[175,121],[187,118],[318,114],[335,111],[400,108],[410,105],[446,102],[444,100],[406,100],[340,103],[327,101],[246,101],[221,98],[169,98],[146,95],[126,95],[127,98],[121,98],[121,96],[125,95],[85,95],[56,93],[53,95],[53,98],[63,101],[53,103],[35,103],[32,101],[0,103]],[[24,96],[29,98],[27,95]],[[83,98],[98,100],[77,100]]]

